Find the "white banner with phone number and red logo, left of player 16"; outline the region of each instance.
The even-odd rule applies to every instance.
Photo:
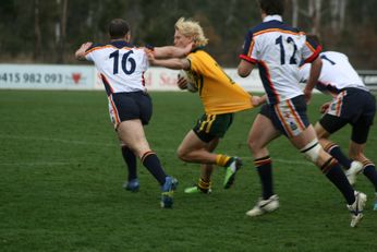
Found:
[[[93,89],[92,65],[0,64],[0,88]]]

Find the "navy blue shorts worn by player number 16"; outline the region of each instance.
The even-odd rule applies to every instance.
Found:
[[[148,124],[153,113],[150,96],[145,92],[112,94],[109,96],[109,113],[115,129],[120,122],[134,119]]]

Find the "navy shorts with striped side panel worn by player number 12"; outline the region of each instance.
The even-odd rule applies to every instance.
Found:
[[[273,127],[288,137],[301,134],[309,124],[303,95],[275,105],[264,105],[260,115],[269,118]]]

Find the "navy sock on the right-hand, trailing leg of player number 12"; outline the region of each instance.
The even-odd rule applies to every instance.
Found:
[[[335,158],[330,158],[320,167],[320,169],[343,194],[346,204],[352,205],[355,202],[354,190],[346,180],[346,177],[338,161]]]

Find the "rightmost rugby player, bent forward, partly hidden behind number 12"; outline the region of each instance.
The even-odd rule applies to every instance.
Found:
[[[309,37],[318,41],[317,36],[312,35]],[[320,110],[324,116],[315,124],[319,143],[326,152],[348,169],[345,175],[351,184],[355,183],[356,175],[363,171],[373,183],[377,197],[376,167],[364,155],[370,125],[376,113],[376,99],[360,79],[345,55],[337,51],[325,51],[319,57],[323,59],[323,69],[316,88],[332,96],[331,101],[321,106]],[[302,83],[306,83],[309,72],[311,64],[302,65],[300,69]],[[352,127],[349,145],[349,157],[351,159],[342,153],[339,145],[329,141],[331,134],[346,124]],[[377,211],[376,200],[374,209]]]

